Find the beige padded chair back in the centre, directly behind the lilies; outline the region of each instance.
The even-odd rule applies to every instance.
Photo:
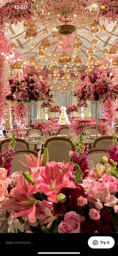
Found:
[[[74,151],[73,144],[66,138],[50,138],[45,142],[48,150],[49,161],[69,162],[69,151]]]

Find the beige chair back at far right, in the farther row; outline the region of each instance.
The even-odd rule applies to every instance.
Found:
[[[102,136],[100,138],[97,138],[93,143],[93,149],[111,150],[110,144],[112,143],[112,139],[112,136]]]

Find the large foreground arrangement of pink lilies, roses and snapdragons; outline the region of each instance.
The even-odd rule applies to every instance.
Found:
[[[82,135],[73,142],[70,162],[48,162],[48,152],[25,156],[27,172],[2,178],[0,207],[16,212],[18,232],[112,233],[118,230],[117,140],[109,159],[103,157],[87,172]],[[25,163],[22,162],[26,166]],[[43,165],[43,167],[42,167]],[[12,182],[13,181],[13,182]],[[8,193],[9,191],[9,193]],[[9,227],[13,232],[14,220]]]

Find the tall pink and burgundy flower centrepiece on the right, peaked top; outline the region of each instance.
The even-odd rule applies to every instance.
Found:
[[[107,68],[102,69],[102,65],[106,64]],[[74,96],[78,100],[78,104],[83,100],[115,100],[118,85],[116,85],[114,72],[109,68],[109,62],[104,60],[100,66],[94,68],[89,74],[83,74],[77,83],[77,89]]]

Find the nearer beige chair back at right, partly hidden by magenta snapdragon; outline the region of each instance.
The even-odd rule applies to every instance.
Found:
[[[109,157],[107,150],[91,149],[88,150],[87,153],[87,160],[93,161],[94,167],[96,167],[96,164],[100,163],[99,158],[102,159],[103,156]]]

